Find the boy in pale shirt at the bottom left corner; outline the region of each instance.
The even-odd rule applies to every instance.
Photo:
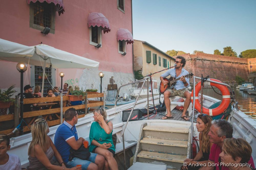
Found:
[[[20,159],[17,155],[8,154],[10,139],[7,135],[0,134],[0,169],[20,170]]]

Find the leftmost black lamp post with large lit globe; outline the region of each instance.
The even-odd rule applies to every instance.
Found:
[[[23,73],[28,69],[25,62],[19,62],[16,65],[17,70],[20,72],[20,119],[23,119]],[[23,135],[23,123],[20,125],[20,133]]]

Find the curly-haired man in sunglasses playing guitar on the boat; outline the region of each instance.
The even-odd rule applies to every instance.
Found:
[[[164,74],[160,76],[160,80],[163,82],[165,86],[167,86],[168,81],[164,80],[164,77],[172,76],[174,78],[181,77],[175,84],[174,89],[167,89],[164,92],[164,103],[166,106],[167,114],[162,119],[172,119],[172,113],[170,108],[170,100],[169,97],[174,96],[180,96],[183,98],[186,98],[184,103],[184,110],[182,112],[181,118],[184,120],[189,120],[189,118],[186,116],[186,111],[188,109],[188,106],[191,102],[191,93],[186,89],[190,86],[189,84],[189,78],[184,78],[182,76],[185,76],[188,74],[188,71],[185,70],[183,67],[186,64],[186,59],[182,56],[177,56],[175,63],[177,64],[174,69],[170,69],[166,71]]]

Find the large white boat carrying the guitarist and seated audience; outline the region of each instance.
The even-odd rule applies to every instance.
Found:
[[[218,99],[204,95],[203,106],[209,107],[218,101]],[[154,102],[156,105],[158,104],[159,96],[154,97]],[[161,96],[161,102],[163,102],[163,95]],[[156,115],[154,119],[131,121],[125,126],[125,122],[122,122],[122,111],[131,109],[133,104],[128,103],[107,110],[108,119],[113,123],[113,134],[117,136],[115,159],[118,162],[119,169],[124,169],[123,142],[126,160],[127,157],[130,158],[134,155],[133,163],[159,164],[166,165],[170,169],[180,169],[183,160],[190,157],[191,135],[197,137],[197,139],[199,138],[199,132],[195,126],[196,123],[192,124],[191,122],[183,121],[180,118],[181,111],[175,110],[173,111],[173,120],[161,120],[159,118],[162,116]],[[138,100],[134,109],[147,108],[148,105],[152,104],[151,98],[148,103],[147,99]],[[190,113],[189,116],[191,117]],[[79,137],[90,141],[89,133],[93,120],[92,113],[78,120],[76,128]],[[232,108],[228,121],[233,125],[233,137],[243,138],[250,143],[253,150],[252,157],[254,164],[256,164],[256,121],[240,110],[236,110],[236,107]],[[54,141],[58,126],[49,128],[48,135],[52,141]],[[193,131],[191,131],[192,127]],[[121,136],[123,129],[125,131]],[[18,155],[24,168],[29,164],[27,151],[31,140],[31,133],[11,138],[10,140],[11,149],[8,153]],[[129,167],[128,162],[125,165]]]

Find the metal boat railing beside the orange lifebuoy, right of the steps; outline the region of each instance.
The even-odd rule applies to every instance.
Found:
[[[201,79],[201,77],[196,77],[196,76],[193,76],[193,89],[195,89],[196,85],[195,85],[195,79]],[[211,82],[211,83],[216,83],[216,84],[221,84],[223,86],[227,86],[228,89],[230,90],[230,95],[232,97],[232,100],[234,101],[234,104],[235,104],[235,108],[236,110],[238,111],[238,106],[237,106],[237,102],[236,102],[236,98],[235,98],[235,94],[232,90],[232,88],[226,84],[226,83],[222,83],[222,82],[217,82],[217,81],[213,81],[213,80],[209,80],[207,79],[206,81],[208,82]],[[196,96],[196,91],[193,90],[193,99],[195,99],[195,96]],[[193,123],[194,123],[194,115],[195,115],[195,100],[193,100],[193,112],[192,112],[192,122],[191,122],[191,134],[193,134]],[[193,144],[193,135],[191,135],[191,139],[190,139],[190,144],[191,144],[191,149],[193,148],[192,147],[192,144]],[[192,157],[192,150],[190,151],[190,158]]]

